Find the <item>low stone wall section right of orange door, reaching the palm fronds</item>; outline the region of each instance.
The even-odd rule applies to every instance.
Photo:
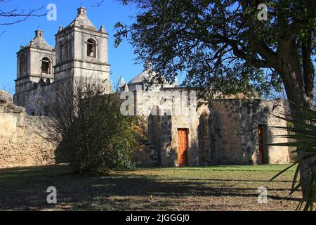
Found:
[[[284,101],[216,100],[209,105],[209,149],[212,165],[282,164],[289,162],[289,148],[264,146],[264,162],[260,162],[258,127],[263,126],[263,142],[287,142],[277,135],[287,131],[272,127],[286,127],[287,122],[276,118],[285,112]]]

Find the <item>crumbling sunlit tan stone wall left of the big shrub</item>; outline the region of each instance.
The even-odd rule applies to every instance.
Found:
[[[0,91],[0,168],[52,165],[55,146],[41,134],[43,117],[27,115]]]

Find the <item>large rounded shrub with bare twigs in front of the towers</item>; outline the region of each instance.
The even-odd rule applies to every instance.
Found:
[[[119,95],[104,95],[87,79],[69,86],[60,84],[49,98],[51,120],[44,120],[48,139],[59,144],[56,162],[69,163],[74,173],[133,167],[138,118],[121,115]]]

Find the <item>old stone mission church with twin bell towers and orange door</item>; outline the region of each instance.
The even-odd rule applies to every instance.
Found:
[[[112,93],[108,62],[108,35],[97,29],[79,8],[77,17],[59,27],[55,47],[44,39],[41,30],[17,53],[15,105],[29,116],[47,115],[46,96],[58,93],[60,84],[72,85],[75,79],[89,77]],[[145,116],[147,139],[133,154],[138,165],[260,165],[289,162],[287,147],[266,146],[284,141],[283,131],[272,126],[286,122],[273,115],[286,110],[282,100],[260,98],[215,99],[210,103],[192,98],[192,91],[169,84],[149,85],[150,66],[130,82],[121,79],[121,94],[132,94],[136,111]],[[154,100],[154,101],[153,101]],[[164,105],[170,101],[171,104]],[[183,113],[178,113],[180,103]],[[151,105],[150,105],[151,104]],[[193,110],[192,110],[193,109]],[[152,110],[160,112],[152,115]]]

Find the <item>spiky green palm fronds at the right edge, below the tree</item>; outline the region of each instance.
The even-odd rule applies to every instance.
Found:
[[[268,146],[289,146],[295,147],[296,150],[293,150],[292,153],[302,153],[303,157],[297,162],[294,162],[293,165],[283,169],[281,172],[272,177],[272,180],[276,179],[278,176],[286,172],[294,165],[297,165],[296,172],[291,185],[292,195],[300,188],[304,189],[304,200],[299,203],[297,210],[301,210],[303,204],[303,210],[313,210],[313,205],[315,203],[315,194],[316,194],[316,111],[310,109],[304,109],[300,113],[294,112],[294,116],[289,115],[275,115],[276,118],[286,121],[288,124],[287,127],[271,127],[272,129],[286,130],[288,134],[277,135],[281,138],[286,138],[291,141],[284,143],[270,143]],[[311,162],[308,168],[307,179],[305,178],[302,181],[300,175],[300,168],[303,163]]]

